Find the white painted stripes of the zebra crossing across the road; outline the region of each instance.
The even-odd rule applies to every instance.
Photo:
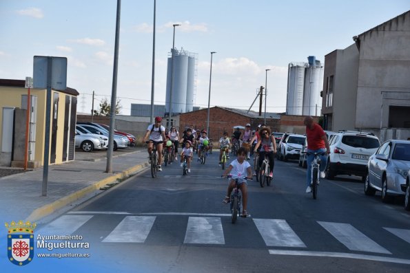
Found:
[[[88,213],[90,212],[69,212],[67,215],[63,215],[51,223],[48,223],[48,225],[41,228],[38,232],[41,235],[74,234],[81,227],[87,226],[93,217],[99,214],[102,215],[104,212]],[[116,217],[121,215],[122,219],[119,223],[115,223],[115,227],[112,230],[107,231],[107,235],[101,238],[101,243],[145,243],[158,217],[163,217],[164,215],[170,217],[174,215],[175,217],[187,218],[185,237],[181,238],[181,243],[225,245],[225,230],[223,228],[222,219],[224,217],[226,219],[226,217],[229,216],[223,214],[200,215],[188,213],[132,215],[129,212],[106,212],[106,214],[115,215]],[[243,221],[245,221],[245,219]],[[252,224],[256,226],[256,230],[260,234],[260,237],[262,237],[267,248],[294,248],[298,250],[309,250],[309,248],[311,248],[311,245],[300,239],[297,232],[291,228],[285,219],[252,219],[252,222]],[[322,227],[323,232],[328,232],[334,239],[342,243],[342,245],[345,245],[346,251],[351,250],[391,255],[391,252],[387,250],[387,248],[382,247],[382,245],[367,237],[365,230],[358,230],[349,223],[316,222],[318,223],[318,228]],[[225,226],[225,229],[228,227],[229,226]],[[104,229],[103,226],[99,228],[101,230]],[[410,243],[410,230],[400,228],[383,229],[395,235],[399,240]],[[272,250],[269,250],[269,252],[271,251]]]

